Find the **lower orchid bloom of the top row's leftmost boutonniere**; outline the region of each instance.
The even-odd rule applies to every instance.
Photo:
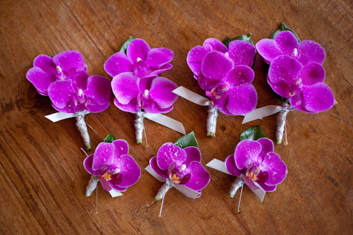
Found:
[[[71,68],[66,79],[49,85],[52,106],[59,112],[75,113],[80,110],[102,112],[109,107],[110,81],[102,76],[89,76],[83,70]]]

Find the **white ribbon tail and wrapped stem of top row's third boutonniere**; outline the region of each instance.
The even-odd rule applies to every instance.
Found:
[[[203,97],[202,95],[198,95],[195,92],[192,92],[189,89],[180,86],[179,88],[172,91],[174,94],[183,97],[186,100],[193,102],[194,104],[198,104],[201,106],[208,106],[208,116],[207,116],[207,135],[215,137],[216,126],[217,126],[217,116],[218,109],[213,107],[213,102]]]

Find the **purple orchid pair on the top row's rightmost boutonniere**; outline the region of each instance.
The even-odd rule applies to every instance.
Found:
[[[263,39],[256,44],[258,53],[270,64],[268,84],[281,97],[302,112],[323,112],[335,102],[332,90],[323,83],[325,49],[311,40],[298,42],[289,30],[275,39]]]

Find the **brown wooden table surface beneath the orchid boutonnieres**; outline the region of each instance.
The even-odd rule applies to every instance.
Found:
[[[352,234],[353,233],[353,4],[337,1],[18,1],[0,4],[0,234]],[[56,112],[25,78],[37,54],[69,49],[85,58],[88,73],[112,80],[103,64],[129,36],[150,47],[174,52],[173,68],[162,76],[205,95],[186,64],[189,50],[209,37],[225,40],[252,33],[253,42],[269,37],[285,22],[304,40],[320,43],[327,83],[338,104],[327,112],[287,116],[289,145],[275,145],[287,164],[287,178],[261,203],[244,187],[229,197],[234,176],[205,167],[211,181],[193,200],[172,188],[162,217],[154,199],[162,183],[143,170],[163,143],[180,133],[145,120],[149,147],[137,145],[134,114],[113,104],[86,122],[93,150],[101,136],[127,140],[142,169],[123,196],[98,189],[85,196],[90,175],[83,168],[83,140],[74,119],[44,118]],[[253,85],[257,107],[280,104],[256,57]],[[179,97],[167,116],[194,131],[202,164],[225,160],[239,135],[259,125],[275,140],[276,115],[241,125],[241,116],[218,116],[216,138],[206,136],[207,107]],[[144,140],[145,141],[145,140]]]

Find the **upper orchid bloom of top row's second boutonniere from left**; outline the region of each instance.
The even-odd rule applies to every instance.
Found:
[[[156,76],[172,68],[173,51],[167,48],[153,48],[141,39],[133,40],[124,52],[117,52],[104,63],[104,70],[112,77],[132,72],[133,76]]]

